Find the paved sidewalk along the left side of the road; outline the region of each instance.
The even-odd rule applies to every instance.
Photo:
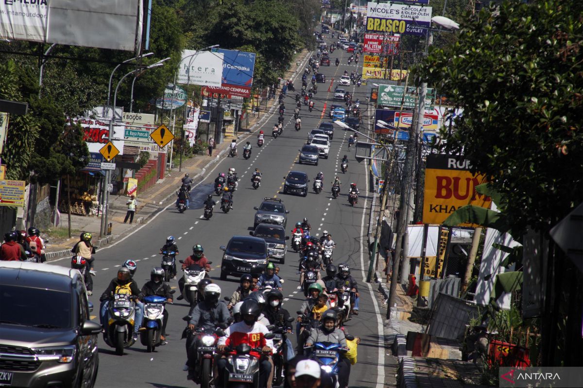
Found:
[[[304,50],[294,59],[290,70],[286,72],[286,79],[290,79],[298,67],[303,66],[308,59],[309,52]],[[300,62],[300,66],[296,65]],[[245,141],[247,136],[255,131],[258,131],[261,126],[271,117],[278,105],[277,99],[269,100],[268,112],[261,115],[261,117],[249,118],[248,130],[237,133],[239,141],[237,144]],[[178,172],[178,166],[167,172],[164,179],[158,180],[152,187],[147,188],[142,193],[138,193],[136,200],[138,200],[138,207],[134,216],[134,223],[124,223],[125,213],[127,212],[127,205],[125,202],[128,197],[126,195],[110,195],[108,222],[112,224],[111,234],[99,239],[99,232],[101,229],[101,216],[76,216],[71,215],[71,239],[59,239],[58,237],[50,237],[47,243],[47,259],[54,259],[71,254],[72,246],[79,241],[79,233],[89,232],[93,234],[93,244],[96,247],[111,243],[111,241],[118,240],[120,237],[131,233],[139,224],[147,222],[152,216],[163,209],[168,202],[174,201],[176,198],[176,190],[180,187],[181,179],[185,173],[189,173],[194,181],[194,185],[199,183],[204,178],[204,173],[214,163],[217,163],[220,158],[224,156],[226,148],[229,147],[229,141],[223,141],[217,144],[213,151],[213,156],[195,155],[190,159],[182,162],[181,172]],[[59,227],[68,226],[68,215],[61,214],[61,225]]]

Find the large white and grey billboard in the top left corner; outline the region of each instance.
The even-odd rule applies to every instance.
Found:
[[[4,0],[0,39],[138,52],[141,0]]]

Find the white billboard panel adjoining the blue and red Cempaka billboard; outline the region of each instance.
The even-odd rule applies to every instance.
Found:
[[[200,86],[221,86],[223,54],[184,50],[178,65],[177,82]]]

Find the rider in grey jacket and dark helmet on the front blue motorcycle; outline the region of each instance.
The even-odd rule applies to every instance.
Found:
[[[317,342],[330,342],[340,344],[346,348],[346,337],[344,332],[336,328],[338,314],[334,310],[326,310],[322,314],[322,325],[317,329],[312,329],[310,337],[306,340],[305,346],[312,346]],[[341,388],[348,386],[350,376],[350,361],[340,355],[338,359],[338,383]]]

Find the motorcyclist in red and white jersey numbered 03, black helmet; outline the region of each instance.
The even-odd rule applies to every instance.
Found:
[[[259,316],[259,305],[254,300],[245,300],[241,305],[241,318],[243,321],[234,323],[225,330],[225,336],[219,338],[217,350],[223,352],[228,346],[231,349],[236,348],[240,344],[248,344],[251,348],[261,348],[263,355],[273,353],[273,341],[265,339],[265,334],[269,330],[262,323],[257,322]],[[261,354],[251,351],[251,355],[259,359],[259,388],[267,386],[267,380],[271,373],[271,364],[268,359],[261,358]],[[222,387],[224,382],[224,373],[227,368],[228,361],[226,358],[219,358],[217,360],[217,367],[219,369],[219,378],[215,380],[218,387]]]

